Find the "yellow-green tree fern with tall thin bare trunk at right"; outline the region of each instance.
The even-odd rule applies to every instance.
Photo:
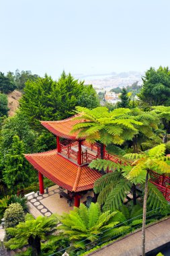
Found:
[[[130,170],[125,170],[126,178],[135,184],[145,183],[144,202],[143,202],[143,219],[142,219],[142,256],[144,256],[145,255],[146,202],[148,197],[149,174],[152,170],[154,170],[159,174],[170,173],[170,166],[169,164],[167,164],[167,160],[169,160],[169,158],[165,156],[164,144],[160,144],[159,146],[156,146],[155,148],[148,150],[148,152],[143,152],[140,154],[126,154],[124,157],[129,160],[134,160],[131,164],[132,168]]]

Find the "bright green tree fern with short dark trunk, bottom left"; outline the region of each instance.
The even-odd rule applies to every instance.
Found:
[[[36,220],[31,214],[26,215],[26,222],[20,222],[15,228],[7,228],[7,232],[14,236],[5,245],[10,249],[18,249],[24,245],[32,247],[32,255],[40,255],[40,241],[47,240],[56,230],[58,220],[56,216],[38,216]]]

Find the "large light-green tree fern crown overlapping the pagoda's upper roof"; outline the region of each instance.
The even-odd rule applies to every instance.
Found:
[[[117,108],[111,112],[106,107],[89,110],[78,106],[76,109],[78,117],[75,119],[83,123],[75,125],[72,132],[78,131],[77,137],[85,137],[91,143],[100,141],[105,145],[121,145],[138,133],[134,125],[142,125],[139,121],[127,119],[127,114],[130,113],[128,108]]]

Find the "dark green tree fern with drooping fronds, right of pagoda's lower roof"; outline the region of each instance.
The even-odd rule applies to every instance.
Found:
[[[130,156],[136,154],[130,154]],[[142,154],[141,154],[142,155]],[[127,155],[126,155],[127,156]],[[137,154],[138,156],[138,154]],[[132,162],[115,163],[110,160],[93,160],[89,166],[97,170],[112,170],[112,172],[103,175],[95,181],[94,191],[99,193],[97,201],[103,204],[103,210],[119,210],[127,193],[131,190],[132,183],[134,185],[144,183],[144,178],[140,175],[137,180],[129,180],[126,174],[132,169]],[[132,182],[134,181],[134,182]],[[153,209],[167,207],[167,201],[163,194],[148,181],[148,206]]]

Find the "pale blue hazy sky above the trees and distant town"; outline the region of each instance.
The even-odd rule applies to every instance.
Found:
[[[146,71],[170,61],[169,0],[0,0],[0,71]],[[170,65],[169,65],[170,66]]]

